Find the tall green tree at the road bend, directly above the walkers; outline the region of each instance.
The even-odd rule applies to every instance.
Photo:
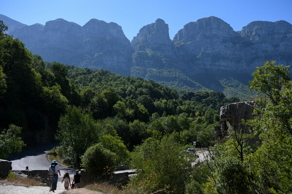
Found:
[[[60,117],[56,139],[65,150],[64,160],[80,167],[81,156],[98,141],[98,130],[91,113],[85,113],[74,106],[69,106],[66,112]]]

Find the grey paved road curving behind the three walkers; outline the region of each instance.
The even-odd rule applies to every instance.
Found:
[[[12,162],[12,170],[25,170],[25,167],[28,166],[29,170],[48,170],[51,165],[51,161],[47,158],[47,152],[58,146],[57,143],[39,146],[34,148],[24,149],[19,154],[14,154],[9,157],[8,161]],[[73,180],[73,174],[75,169],[68,168],[66,166],[59,165],[61,177],[58,178],[58,181],[62,181],[63,175],[66,172],[70,173],[70,180]]]

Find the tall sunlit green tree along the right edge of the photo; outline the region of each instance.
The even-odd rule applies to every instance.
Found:
[[[289,66],[266,62],[251,89],[262,93],[249,122],[261,145],[251,154],[255,187],[263,193],[292,193],[292,89]],[[288,157],[287,157],[288,156]]]

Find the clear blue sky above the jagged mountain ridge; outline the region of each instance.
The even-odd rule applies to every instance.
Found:
[[[173,39],[185,24],[208,16],[223,19],[235,31],[256,20],[292,24],[292,0],[0,0],[0,14],[27,25],[63,18],[83,26],[96,18],[122,26],[130,41],[161,18]]]

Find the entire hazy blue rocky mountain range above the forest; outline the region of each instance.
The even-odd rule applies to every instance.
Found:
[[[168,25],[157,19],[131,41],[118,24],[97,19],[84,26],[61,18],[31,26],[3,15],[0,20],[44,61],[103,68],[186,90],[228,93],[230,84],[248,85],[256,66],[267,60],[292,65],[292,25],[283,20],[254,21],[235,32],[210,16],[186,24],[171,40]]]

